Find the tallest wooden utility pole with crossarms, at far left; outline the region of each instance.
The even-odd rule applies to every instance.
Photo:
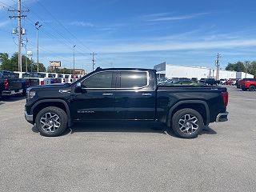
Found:
[[[18,0],[18,10],[8,10],[18,12],[18,15],[9,16],[9,18],[18,18],[18,71],[22,72],[22,18],[26,18],[26,15],[22,15],[22,12],[29,10],[22,10],[22,1]]]

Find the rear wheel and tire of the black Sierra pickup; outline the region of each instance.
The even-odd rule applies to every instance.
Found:
[[[187,115],[190,115],[190,117],[193,117],[193,118],[191,118],[193,120],[190,121],[189,119],[187,119],[186,118],[186,117],[188,117]],[[184,117],[185,117],[185,119],[187,119],[187,122],[186,122],[186,120],[183,120]],[[196,123],[194,123],[195,120],[197,120]],[[184,122],[185,126],[183,125],[183,128],[188,129],[188,130],[186,130],[186,133],[182,132],[181,126],[183,123],[180,124],[181,122]],[[186,123],[189,123],[190,125],[188,125]],[[194,125],[196,130],[191,129],[192,128],[191,125]],[[198,111],[192,110],[190,108],[178,110],[172,117],[171,128],[174,131],[174,134],[176,134],[179,138],[196,138],[196,137],[198,137],[198,134],[201,133],[203,126],[204,126],[204,124],[203,124],[202,115],[199,114]]]

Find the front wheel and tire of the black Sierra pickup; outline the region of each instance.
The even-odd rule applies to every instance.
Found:
[[[47,120],[47,117],[50,117],[50,116],[52,117],[48,118]],[[43,126],[41,120],[42,122],[48,122],[48,123],[45,123],[45,126]],[[46,137],[59,136],[67,128],[66,112],[56,106],[48,106],[45,109],[42,109],[38,112],[38,115],[35,118],[35,125],[38,128],[39,132]],[[52,130],[54,129],[55,126],[58,126],[58,128],[56,130]],[[47,127],[50,127],[50,128],[47,128]]]

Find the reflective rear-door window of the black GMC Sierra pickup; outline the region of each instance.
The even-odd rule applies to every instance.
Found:
[[[121,88],[134,88],[147,85],[146,72],[123,71],[120,80]]]

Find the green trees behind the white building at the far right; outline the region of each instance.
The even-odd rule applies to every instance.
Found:
[[[228,65],[226,66],[226,70],[245,72],[247,74],[253,74],[255,77],[256,76],[256,61],[234,62],[234,63],[229,62]]]

